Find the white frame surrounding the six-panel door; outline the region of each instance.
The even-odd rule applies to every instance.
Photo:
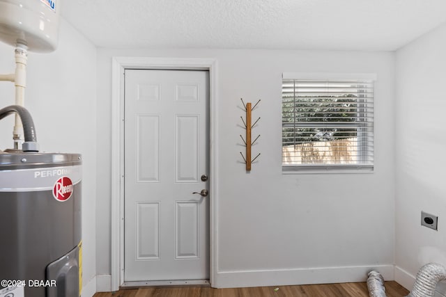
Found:
[[[217,60],[215,58],[112,58],[112,234],[111,289],[124,282],[124,71],[207,70],[209,72],[209,278],[217,274]]]

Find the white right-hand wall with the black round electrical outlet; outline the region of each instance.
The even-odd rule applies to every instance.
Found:
[[[445,53],[443,24],[396,54],[395,277],[409,289],[422,265],[446,266]],[[421,211],[439,217],[438,232],[421,226]]]

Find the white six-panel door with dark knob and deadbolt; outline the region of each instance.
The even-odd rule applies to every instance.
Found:
[[[207,71],[125,70],[125,282],[209,278],[208,104]]]

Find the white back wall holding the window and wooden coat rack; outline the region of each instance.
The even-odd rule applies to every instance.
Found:
[[[217,287],[393,279],[394,53],[98,49],[98,144],[111,142],[112,56],[217,58]],[[376,82],[373,174],[282,175],[282,72],[369,72]],[[254,117],[258,163],[240,163],[240,97]],[[110,273],[110,150],[98,150],[98,275]],[[100,230],[100,231],[99,231]]]

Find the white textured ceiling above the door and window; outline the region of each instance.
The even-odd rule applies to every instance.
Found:
[[[446,0],[64,0],[98,47],[394,50],[446,22]]]

